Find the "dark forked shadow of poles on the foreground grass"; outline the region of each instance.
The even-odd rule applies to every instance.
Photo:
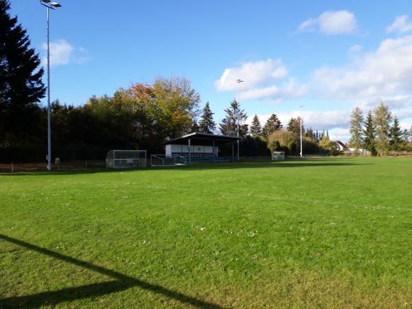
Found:
[[[183,295],[182,293],[176,292],[174,290],[163,288],[163,286],[150,284],[148,282],[136,279],[135,277],[130,277],[128,275],[117,273],[116,271],[111,271],[110,269],[101,266],[77,260],[67,255],[62,255],[60,253],[50,251],[49,249],[35,246],[34,244],[30,244],[28,242],[23,242],[21,240],[17,240],[15,238],[11,238],[2,234],[0,234],[0,239],[7,242],[12,242],[13,244],[17,244],[21,247],[25,247],[38,253],[49,255],[58,260],[90,269],[91,271],[95,271],[102,275],[107,275],[115,279],[108,282],[100,282],[98,284],[87,284],[84,286],[64,288],[62,290],[46,291],[34,295],[16,296],[0,299],[0,308],[39,308],[41,306],[55,306],[56,304],[59,304],[63,301],[73,301],[76,299],[102,296],[122,290],[127,290],[128,288],[132,287],[143,288],[144,290],[148,290],[152,293],[157,293],[170,299],[180,301],[185,305],[192,305],[198,308],[221,308],[216,304],[211,304],[194,297]]]

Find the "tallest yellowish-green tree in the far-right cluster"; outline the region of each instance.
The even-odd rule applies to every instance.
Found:
[[[382,102],[374,111],[374,125],[376,128],[376,148],[380,151],[380,155],[383,155],[389,148],[389,130],[390,123],[392,121],[392,115],[388,106],[385,106]]]

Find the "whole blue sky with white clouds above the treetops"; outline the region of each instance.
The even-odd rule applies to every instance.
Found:
[[[346,140],[352,108],[366,113],[382,100],[412,124],[409,0],[59,2],[52,100],[84,104],[133,82],[185,76],[220,122],[242,78],[240,104],[262,122],[301,113],[307,126]],[[44,56],[45,8],[10,3]]]

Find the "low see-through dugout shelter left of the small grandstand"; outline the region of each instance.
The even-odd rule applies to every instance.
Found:
[[[110,150],[106,168],[146,168],[146,150]]]

